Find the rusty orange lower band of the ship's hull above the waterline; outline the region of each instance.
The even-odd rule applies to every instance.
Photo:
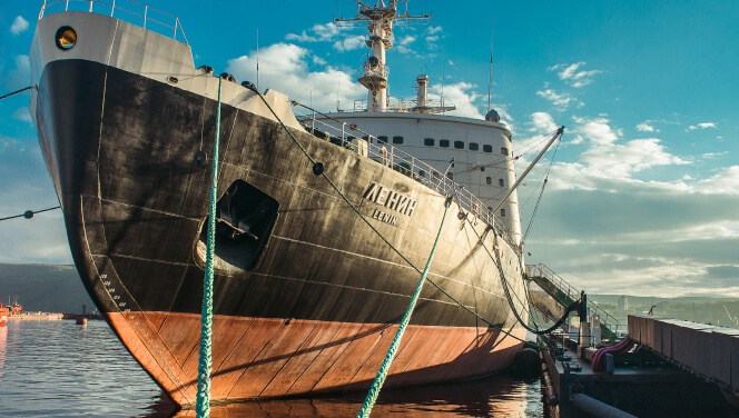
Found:
[[[164,335],[155,335],[160,347],[186,347],[193,340],[191,334],[199,331],[199,317],[191,314],[138,312],[139,321],[160,321],[167,317],[174,332],[162,328]],[[169,381],[168,389],[180,402],[195,397],[197,382],[197,357],[188,350],[161,349],[160,357],[167,357],[167,367],[158,367],[155,355],[136,337],[129,322],[121,314],[109,314],[108,320],[121,334],[127,348],[147,371],[157,380]],[[289,328],[288,332],[279,332]],[[506,365],[509,357],[518,349],[513,338],[505,337],[494,329],[482,330],[474,327],[449,327],[444,336],[459,342],[446,345],[441,350],[436,345],[420,344],[434,335],[439,327],[411,326],[408,338],[402,345],[395,359],[388,387],[420,385],[460,379],[480,374],[494,372]],[[390,339],[396,326],[358,325],[292,320],[289,324],[275,319],[214,317],[214,372],[211,375],[213,400],[238,400],[247,398],[273,398],[285,395],[305,395],[321,391],[352,391],[366,389],[383,361]],[[516,331],[523,337],[523,332]],[[238,340],[238,344],[235,341]],[[219,344],[215,344],[219,342]],[[183,345],[187,344],[187,345]],[[457,347],[466,347],[460,350]],[[372,356],[366,356],[372,352]],[[440,355],[443,362],[435,366],[414,362],[417,358]],[[180,367],[179,365],[185,365]],[[195,365],[195,366],[194,366]],[[170,379],[167,368],[177,369],[180,380]]]

